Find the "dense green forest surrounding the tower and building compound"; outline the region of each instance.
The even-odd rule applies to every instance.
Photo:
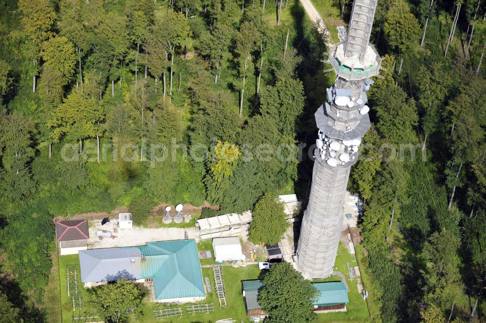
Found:
[[[379,0],[348,187],[368,322],[485,320],[485,7]],[[305,203],[328,50],[298,0],[0,0],[0,322],[57,322],[54,217]]]

